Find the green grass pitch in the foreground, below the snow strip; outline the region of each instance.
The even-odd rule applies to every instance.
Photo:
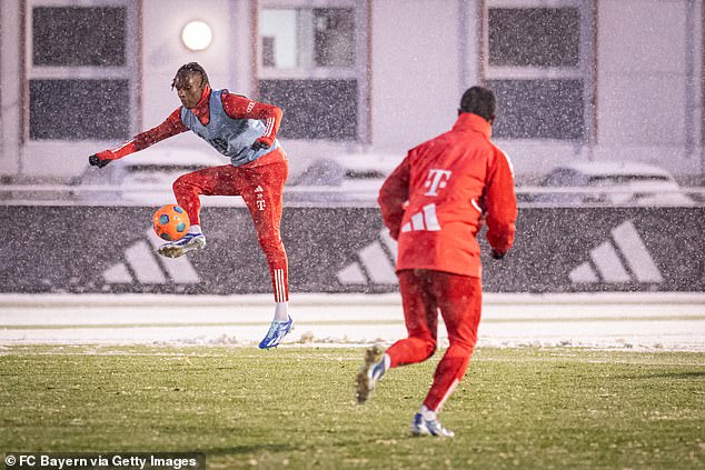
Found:
[[[0,451],[202,451],[209,469],[701,469],[705,353],[478,349],[408,427],[440,352],[354,400],[355,348],[12,347]]]

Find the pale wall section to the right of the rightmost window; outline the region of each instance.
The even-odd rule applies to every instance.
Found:
[[[699,3],[599,2],[597,158],[648,161],[679,173],[698,169]]]

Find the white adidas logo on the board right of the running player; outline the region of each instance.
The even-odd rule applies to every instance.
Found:
[[[577,283],[661,283],[658,267],[630,220],[612,230],[612,237],[592,249],[589,261],[575,268],[568,277]]]

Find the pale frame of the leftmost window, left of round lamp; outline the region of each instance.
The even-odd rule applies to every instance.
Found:
[[[56,142],[102,142],[105,139],[31,139],[30,138],[30,82],[32,80],[127,80],[128,81],[128,136],[133,136],[141,126],[140,68],[139,68],[139,11],[141,0],[26,0],[22,97],[26,111],[22,117],[23,142],[38,146]],[[125,8],[125,64],[123,66],[34,66],[33,63],[33,10],[34,8]]]

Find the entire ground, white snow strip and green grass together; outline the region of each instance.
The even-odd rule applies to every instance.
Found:
[[[696,469],[705,297],[485,299],[468,373],[413,438],[439,353],[354,400],[363,346],[404,334],[397,296],[0,297],[0,450],[202,451],[209,469]],[[445,346],[441,330],[441,348]]]

